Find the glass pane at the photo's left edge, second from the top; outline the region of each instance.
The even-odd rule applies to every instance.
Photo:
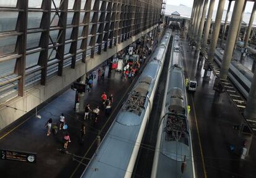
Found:
[[[19,12],[0,12],[0,32],[14,31]]]

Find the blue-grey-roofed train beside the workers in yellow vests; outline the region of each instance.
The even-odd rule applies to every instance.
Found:
[[[177,34],[173,43],[151,178],[195,177],[183,65],[176,48],[179,46]]]

